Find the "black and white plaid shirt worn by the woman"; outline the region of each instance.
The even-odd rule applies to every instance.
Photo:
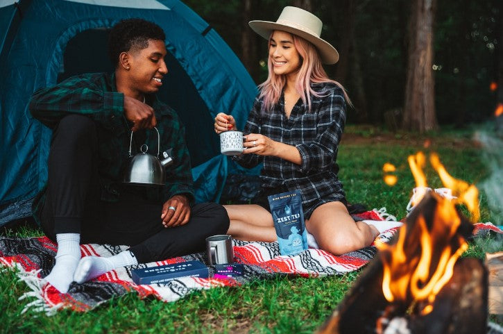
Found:
[[[289,191],[300,190],[302,202],[308,210],[314,210],[320,200],[323,203],[344,199],[337,178],[339,166],[336,159],[346,122],[346,100],[342,89],[333,83],[316,83],[312,88],[322,97],[311,96],[310,112],[307,104],[299,99],[289,118],[284,113],[283,94],[271,112],[262,110],[262,99],[257,97],[244,128],[245,135],[260,133],[297,147],[301,165],[275,156],[243,154],[235,158],[248,168],[263,161],[262,187],[284,186]]]

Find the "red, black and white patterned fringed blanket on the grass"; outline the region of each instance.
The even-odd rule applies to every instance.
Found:
[[[363,219],[393,219],[385,210],[373,210],[360,215]],[[480,230],[495,229],[492,224],[477,224]],[[378,238],[387,242],[397,228],[391,228]],[[127,246],[110,246],[107,244],[83,244],[80,247],[82,256],[113,256]],[[244,264],[244,275],[237,278],[213,278],[214,269],[210,269],[210,278],[178,278],[165,284],[136,285],[131,279],[131,271],[137,268],[167,265],[187,260],[201,260],[207,263],[205,253],[194,253],[189,256],[170,258],[160,262],[150,262],[130,267],[121,267],[95,278],[92,281],[77,284],[71,283],[69,292],[62,294],[52,285],[42,280],[51,272],[57,246],[47,237],[10,238],[0,237],[0,265],[17,269],[17,275],[25,281],[30,292],[20,299],[29,302],[24,308],[46,312],[53,315],[62,308],[76,311],[87,311],[95,308],[112,297],[126,293],[137,293],[140,298],[154,296],[162,301],[176,301],[196,290],[212,287],[236,286],[253,279],[272,278],[279,275],[297,275],[319,277],[339,275],[352,272],[366,265],[376,253],[372,245],[342,256],[334,256],[321,249],[308,249],[295,256],[280,256],[277,242],[242,242],[234,240],[236,262]],[[6,270],[1,268],[0,270]]]

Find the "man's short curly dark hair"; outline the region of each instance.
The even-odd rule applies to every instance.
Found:
[[[108,35],[108,56],[112,64],[119,65],[121,52],[148,47],[148,40],[166,39],[164,31],[157,24],[145,19],[123,19],[112,26]]]

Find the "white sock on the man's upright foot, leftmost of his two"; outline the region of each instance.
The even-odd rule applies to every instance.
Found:
[[[44,279],[60,292],[67,293],[80,260],[80,233],[58,233],[56,240],[56,265]]]

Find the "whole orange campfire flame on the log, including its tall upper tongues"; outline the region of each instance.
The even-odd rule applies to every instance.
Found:
[[[425,189],[425,155],[418,152],[408,160],[417,189]],[[427,301],[421,310],[423,315],[432,311],[436,295],[450,281],[454,264],[468,249],[468,243],[458,232],[461,217],[455,205],[465,203],[472,217],[479,217],[477,188],[450,176],[436,153],[432,153],[430,162],[443,184],[458,197],[457,201],[429,192],[436,203],[432,219],[427,221],[423,212],[418,212],[414,222],[400,228],[395,244],[376,243],[383,264],[384,297],[389,302],[403,301],[407,305],[412,301]],[[423,196],[416,194],[416,197]]]

